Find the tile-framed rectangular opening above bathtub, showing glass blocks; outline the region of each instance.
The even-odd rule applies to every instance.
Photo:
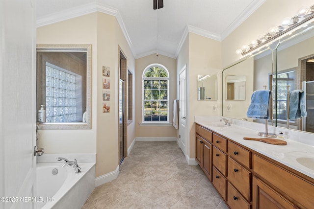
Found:
[[[90,98],[91,45],[37,45],[38,128],[90,129]]]

